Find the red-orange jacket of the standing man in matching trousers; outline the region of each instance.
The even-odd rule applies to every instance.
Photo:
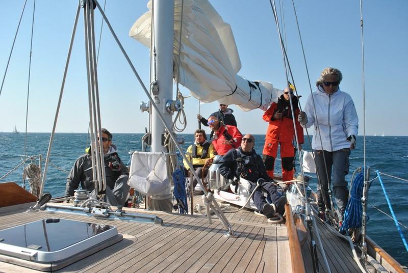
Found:
[[[282,95],[283,96],[283,95]],[[278,101],[279,106],[282,108],[285,106],[285,99],[281,96]],[[282,100],[283,99],[283,100]],[[293,105],[297,105],[297,99],[294,97],[292,99]],[[269,122],[268,130],[265,135],[265,139],[267,141],[279,141],[279,142],[290,142],[292,143],[294,140],[295,130],[293,128],[293,120],[292,120],[292,111],[289,108],[283,107],[280,109],[279,112],[283,113],[282,118],[275,120],[273,119],[273,115],[278,111],[278,103],[273,102],[269,109],[265,111],[264,116],[262,117],[265,121]],[[286,102],[289,103],[289,102]],[[283,105],[283,106],[281,106]],[[290,105],[290,104],[289,104]],[[299,115],[299,108],[296,107],[294,114],[295,114],[295,124],[297,130],[297,137],[300,144],[303,144],[303,128],[300,126],[300,123],[297,121],[297,116]]]

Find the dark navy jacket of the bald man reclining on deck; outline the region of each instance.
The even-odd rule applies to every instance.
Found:
[[[243,165],[241,172],[242,178],[254,183],[256,183],[259,178],[263,178],[265,181],[272,181],[272,178],[266,173],[261,156],[253,149],[251,152],[244,152],[241,147],[231,149],[219,161],[219,170],[223,177],[231,180],[234,179],[234,177],[238,177],[238,157],[241,157]]]

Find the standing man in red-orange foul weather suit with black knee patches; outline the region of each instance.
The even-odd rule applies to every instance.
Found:
[[[285,89],[284,94],[279,97],[277,103],[273,102],[269,109],[265,111],[263,119],[269,122],[268,130],[265,135],[265,145],[263,150],[263,160],[266,167],[266,172],[270,177],[273,177],[273,169],[277,154],[277,146],[281,145],[282,158],[282,180],[289,181],[293,179],[295,167],[295,150],[293,148],[293,140],[295,130],[293,128],[292,111],[290,108],[289,94],[292,98],[294,107],[295,122],[299,148],[303,144],[303,128],[297,121],[299,115],[299,106],[297,97],[294,96],[293,90]]]

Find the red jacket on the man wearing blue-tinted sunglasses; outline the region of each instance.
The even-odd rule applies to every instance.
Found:
[[[232,144],[227,144],[229,140],[227,138],[227,135],[224,133],[225,129],[226,129],[226,133],[229,134],[234,140]],[[218,131],[214,132],[214,135],[213,135],[214,149],[220,155],[224,155],[227,151],[240,147],[241,141],[242,141],[241,132],[238,130],[237,127],[232,126],[232,125],[220,126]]]

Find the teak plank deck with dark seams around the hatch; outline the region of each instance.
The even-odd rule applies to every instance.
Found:
[[[196,197],[195,203],[200,199]],[[44,211],[25,212],[32,204],[0,208],[0,229],[21,225],[47,217],[114,225],[123,240],[58,272],[292,272],[287,228],[270,224],[265,217],[250,210],[226,213],[238,238],[227,238],[226,229],[213,217],[181,215],[161,211],[129,209],[129,212],[154,214],[163,226],[99,220],[89,216]],[[126,209],[128,210],[128,209]],[[328,231],[327,231],[328,232]],[[326,232],[326,233],[327,233]],[[333,272],[358,272],[347,243],[320,231]],[[325,238],[325,234],[327,238]],[[313,271],[308,243],[302,247],[306,271]],[[337,251],[337,249],[341,251]],[[310,251],[309,251],[310,255]],[[301,262],[301,261],[297,261]],[[324,271],[323,264],[320,268]],[[0,272],[38,272],[0,262]]]

